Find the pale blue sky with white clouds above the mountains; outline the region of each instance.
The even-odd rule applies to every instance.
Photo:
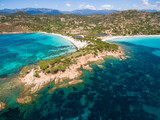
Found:
[[[0,9],[5,8],[51,8],[62,11],[77,9],[160,10],[160,0],[0,0]]]

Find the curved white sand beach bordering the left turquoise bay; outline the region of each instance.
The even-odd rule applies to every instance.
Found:
[[[74,46],[76,46],[78,49],[82,48],[82,47],[86,47],[88,44],[87,42],[81,42],[80,40],[75,40],[70,36],[65,36],[65,35],[61,35],[61,34],[56,34],[56,33],[46,33],[46,32],[41,32],[44,34],[52,34],[52,35],[57,35],[59,37],[65,38],[66,40],[70,41],[72,44],[74,44]]]

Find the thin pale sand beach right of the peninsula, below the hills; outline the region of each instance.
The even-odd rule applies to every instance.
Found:
[[[98,37],[101,38],[102,41],[110,41],[113,39],[120,39],[120,38],[130,38],[130,37],[160,37],[160,35],[127,35],[127,36],[107,36],[107,37]]]

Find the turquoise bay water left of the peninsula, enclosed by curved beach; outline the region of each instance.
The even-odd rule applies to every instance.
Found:
[[[67,40],[51,34],[0,35],[0,78],[18,72],[23,66],[74,52]]]

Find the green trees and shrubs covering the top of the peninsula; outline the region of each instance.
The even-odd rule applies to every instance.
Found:
[[[118,50],[117,45],[104,42],[101,39],[97,39],[96,37],[87,36],[82,38],[81,40],[87,41],[89,45],[85,48],[81,48],[77,50],[76,52],[70,54],[69,56],[65,56],[65,57],[61,56],[48,61],[40,61],[37,64],[37,66],[34,67],[34,70],[36,70],[34,76],[40,77],[38,71],[42,71],[45,74],[49,74],[49,73],[54,74],[54,73],[57,73],[58,71],[64,72],[70,65],[76,64],[77,63],[76,60],[79,57],[87,54],[94,54],[95,56],[97,56],[98,52]]]

